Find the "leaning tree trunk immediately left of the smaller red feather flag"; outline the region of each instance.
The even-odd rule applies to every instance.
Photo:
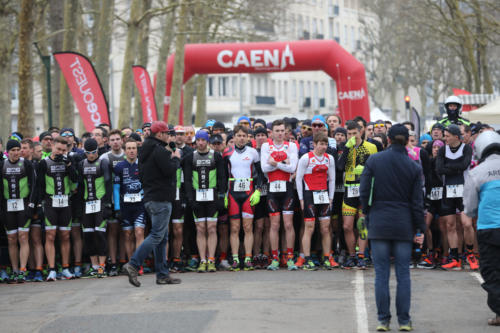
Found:
[[[130,18],[128,21],[127,42],[123,57],[122,83],[120,89],[120,109],[118,113],[118,127],[130,126],[131,99],[132,99],[132,65],[137,50],[137,37],[139,34],[138,19],[141,15],[141,1],[132,0]]]

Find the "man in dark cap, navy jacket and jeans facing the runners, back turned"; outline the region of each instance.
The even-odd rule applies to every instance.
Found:
[[[423,243],[425,232],[420,165],[408,158],[408,129],[400,124],[389,130],[391,146],[370,156],[361,175],[360,201],[367,215],[375,267],[377,331],[389,331],[391,320],[389,277],[391,256],[397,275],[396,308],[400,331],[411,331],[409,262],[413,241]],[[388,204],[390,203],[390,204]],[[394,219],[397,216],[397,219]]]

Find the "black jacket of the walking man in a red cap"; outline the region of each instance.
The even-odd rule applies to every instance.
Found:
[[[139,175],[144,189],[144,202],[175,200],[176,170],[180,166],[177,157],[153,136],[144,141],[139,152]]]

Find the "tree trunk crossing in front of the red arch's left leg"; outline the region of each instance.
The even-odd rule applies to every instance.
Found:
[[[186,26],[188,16],[187,0],[182,0],[179,20],[177,23],[178,33],[175,41],[174,75],[172,78],[172,89],[170,92],[170,110],[168,122],[179,123],[179,111],[181,105],[181,92],[184,79],[184,45],[186,44]]]

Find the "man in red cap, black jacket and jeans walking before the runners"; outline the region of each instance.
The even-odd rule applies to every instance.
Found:
[[[180,152],[167,148],[169,128],[163,121],[151,124],[151,135],[146,138],[139,153],[139,174],[144,189],[144,207],[151,217],[151,232],[123,266],[129,282],[135,287],[141,283],[137,279],[138,270],[144,259],[154,251],[156,284],[178,284],[180,279],[170,277],[166,245],[168,222],[175,199],[175,175],[180,164]]]

